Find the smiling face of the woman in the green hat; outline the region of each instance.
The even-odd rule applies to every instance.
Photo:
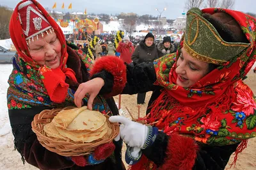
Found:
[[[183,88],[189,88],[207,75],[209,72],[209,64],[192,58],[186,50],[182,48],[175,72],[178,75],[177,85]]]

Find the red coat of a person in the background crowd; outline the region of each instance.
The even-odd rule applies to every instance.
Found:
[[[132,62],[131,57],[132,53],[134,52],[132,42],[129,42],[128,45],[123,42],[119,42],[116,51],[120,52],[120,59],[122,59],[125,63],[129,64]]]

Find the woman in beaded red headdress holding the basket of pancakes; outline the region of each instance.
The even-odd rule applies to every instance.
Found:
[[[38,143],[31,130],[33,117],[44,109],[75,106],[74,93],[79,84],[88,81],[92,62],[81,49],[67,45],[58,24],[34,0],[17,4],[10,20],[10,36],[17,54],[8,81],[8,111],[15,149],[23,162],[40,169],[124,169],[122,141],[107,144],[112,151],[70,158]],[[85,96],[83,104],[88,102]],[[92,104],[103,114],[118,114],[113,98],[97,96]]]

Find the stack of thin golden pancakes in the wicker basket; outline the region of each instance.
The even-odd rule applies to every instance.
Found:
[[[86,106],[58,112],[51,123],[44,126],[44,132],[48,137],[79,143],[94,143],[112,134],[106,116]]]

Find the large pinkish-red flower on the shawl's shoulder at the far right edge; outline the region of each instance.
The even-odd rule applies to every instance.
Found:
[[[244,112],[246,116],[254,113],[256,109],[255,100],[251,97],[250,92],[236,88],[237,101],[233,103],[231,109],[236,112]]]

